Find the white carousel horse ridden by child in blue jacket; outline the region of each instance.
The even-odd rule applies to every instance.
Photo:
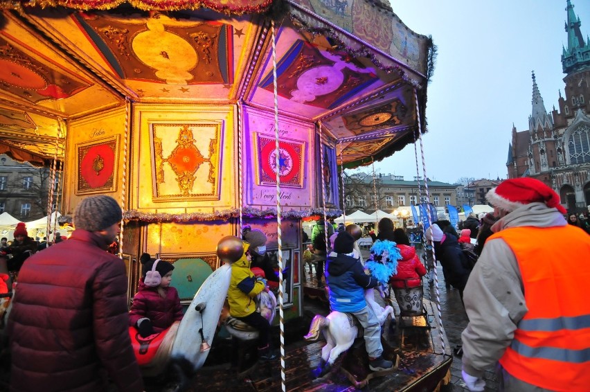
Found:
[[[365,290],[365,299],[367,305],[373,310],[379,324],[383,325],[388,316],[395,318],[395,312],[391,306],[387,305],[382,308],[375,302],[375,292],[373,289]],[[326,344],[321,349],[321,375],[328,373],[338,356],[348,350],[355,342],[359,335],[357,321],[352,314],[342,312],[330,312],[327,317],[316,314],[310,325],[310,332],[305,335],[305,340],[315,341],[319,339],[319,333],[322,332]]]

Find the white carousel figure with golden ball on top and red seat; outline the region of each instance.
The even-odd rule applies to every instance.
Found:
[[[217,256],[222,265],[199,287],[181,321],[145,339],[139,336],[136,328],[129,328],[143,375],[159,375],[170,364],[190,374],[203,366],[229,289],[231,263],[242,257],[243,253],[240,238],[233,235],[222,238],[217,244]]]

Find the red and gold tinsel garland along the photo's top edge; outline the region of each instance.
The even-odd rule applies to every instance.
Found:
[[[0,1],[0,8],[41,7],[73,8],[75,10],[111,10],[123,3],[129,3],[139,10],[178,11],[195,10],[197,8],[210,8],[225,14],[242,15],[261,13],[267,11],[273,0],[242,1],[240,6],[232,6],[231,1],[215,0],[24,0],[24,1]]]

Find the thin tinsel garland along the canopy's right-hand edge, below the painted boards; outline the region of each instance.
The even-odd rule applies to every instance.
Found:
[[[289,16],[291,17],[291,21],[293,22],[295,28],[300,30],[300,33],[301,30],[304,30],[306,33],[311,33],[313,35],[324,35],[325,37],[328,37],[330,40],[334,42],[334,44],[332,45],[334,51],[345,51],[346,53],[348,53],[348,55],[352,57],[366,57],[371,62],[373,62],[373,64],[375,64],[377,68],[381,69],[382,71],[385,71],[386,73],[391,73],[395,71],[400,75],[400,77],[403,80],[411,83],[414,87],[420,88],[420,83],[409,78],[406,75],[406,71],[404,71],[401,66],[397,64],[392,66],[386,66],[385,64],[383,64],[383,62],[381,62],[381,60],[377,58],[375,53],[373,53],[373,51],[371,51],[366,46],[361,46],[358,49],[351,48],[350,46],[347,46],[342,41],[342,39],[340,39],[339,35],[336,32],[334,32],[334,30],[332,30],[331,28],[308,26],[307,24],[305,24],[305,21],[303,21],[303,19],[294,15],[293,12],[289,13]]]

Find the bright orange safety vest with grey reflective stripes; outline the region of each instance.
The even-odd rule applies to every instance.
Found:
[[[510,375],[554,391],[590,391],[590,237],[573,226],[494,234],[517,258],[528,312],[500,359]]]

